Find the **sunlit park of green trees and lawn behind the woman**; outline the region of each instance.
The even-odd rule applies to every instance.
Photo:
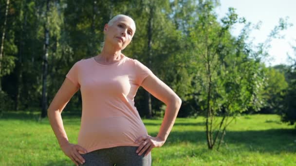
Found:
[[[183,101],[166,144],[152,150],[153,165],[295,165],[296,45],[286,51],[287,63],[272,65],[270,58],[273,42],[295,29],[289,18],[295,16],[279,16],[257,42],[252,33],[264,20],[250,22],[231,7],[218,13],[222,5],[0,0],[0,165],[73,165],[46,110],[74,63],[100,52],[103,27],[117,14],[131,16],[137,27],[123,53],[148,66]],[[140,88],[135,105],[156,136],[164,104]],[[62,113],[72,143],[80,115],[78,92]]]

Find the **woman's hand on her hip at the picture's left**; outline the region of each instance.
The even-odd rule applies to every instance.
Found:
[[[66,154],[66,156],[68,156],[73,163],[78,166],[80,164],[85,163],[84,158],[80,155],[80,153],[85,154],[87,153],[87,150],[82,148],[79,145],[75,145],[75,144],[66,144],[64,146],[61,147],[63,152]]]

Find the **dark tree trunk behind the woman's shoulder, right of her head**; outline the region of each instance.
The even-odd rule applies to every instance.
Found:
[[[153,21],[153,6],[149,7],[149,19],[148,19],[148,68],[151,69],[151,60],[152,60],[152,21]],[[152,105],[151,105],[151,95],[149,92],[145,91],[145,109],[147,118],[152,117]]]

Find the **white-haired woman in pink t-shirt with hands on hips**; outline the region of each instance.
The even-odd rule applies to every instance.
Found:
[[[130,17],[113,17],[104,26],[102,52],[74,64],[48,108],[58,143],[76,165],[150,166],[151,149],[166,142],[175,122],[180,98],[146,66],[121,53],[135,30]],[[148,135],[134,107],[139,86],[166,104],[156,137]],[[82,96],[82,117],[75,145],[67,138],[61,112],[78,89]]]

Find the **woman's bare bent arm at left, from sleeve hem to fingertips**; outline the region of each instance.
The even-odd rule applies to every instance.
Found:
[[[84,163],[84,159],[78,150],[84,153],[87,151],[78,145],[70,144],[64,129],[61,113],[78,89],[79,87],[66,78],[47,110],[50,124],[61,149],[76,165],[78,165],[77,162]]]

